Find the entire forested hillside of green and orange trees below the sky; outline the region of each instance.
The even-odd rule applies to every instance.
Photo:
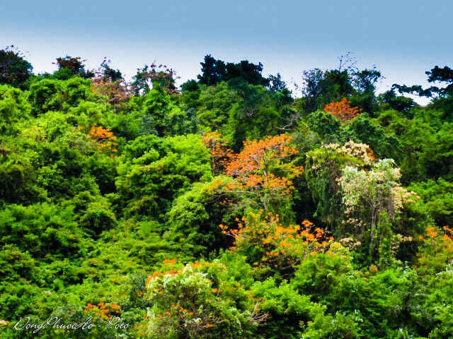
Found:
[[[1,338],[452,338],[449,67],[377,95],[344,59],[291,93],[210,55],[180,88],[24,58],[0,50]]]

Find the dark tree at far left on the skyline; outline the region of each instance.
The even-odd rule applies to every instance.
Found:
[[[33,66],[24,59],[17,47],[0,49],[0,84],[11,85],[25,90],[32,75]]]

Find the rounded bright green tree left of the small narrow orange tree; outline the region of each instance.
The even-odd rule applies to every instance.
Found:
[[[126,215],[162,220],[176,196],[211,178],[210,155],[199,136],[141,136],[127,145],[116,186]]]

